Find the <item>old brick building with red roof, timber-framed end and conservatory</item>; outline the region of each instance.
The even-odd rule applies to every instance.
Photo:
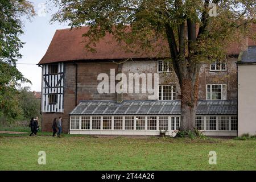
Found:
[[[127,52],[109,34],[96,44],[96,53],[88,52],[81,41],[87,30],[57,30],[39,62],[43,131],[50,131],[53,118],[60,116],[64,132],[71,134],[158,135],[166,131],[171,135],[179,129],[181,96],[176,75],[166,61],[170,53]],[[196,127],[207,135],[237,135],[236,61],[241,49],[234,45],[228,49],[227,60],[202,65]],[[108,93],[98,92],[101,73],[109,78]],[[143,92],[143,81],[133,84],[139,93],[128,92],[128,88],[127,93],[113,92],[111,88],[118,84],[113,73],[127,78],[138,73],[142,80],[152,76],[157,93]],[[147,84],[151,81],[147,79]]]

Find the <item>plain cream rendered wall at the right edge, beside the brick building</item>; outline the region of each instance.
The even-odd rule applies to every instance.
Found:
[[[256,65],[238,65],[238,136],[256,135]]]

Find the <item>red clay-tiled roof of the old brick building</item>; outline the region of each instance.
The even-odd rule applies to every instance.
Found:
[[[256,26],[254,26],[255,28]],[[83,38],[82,34],[88,31],[89,27],[81,27],[79,29],[69,30],[56,30],[55,35],[52,38],[46,54],[40,60],[39,64],[56,63],[62,61],[75,61],[75,60],[109,60],[109,59],[138,59],[138,58],[158,58],[158,57],[170,57],[169,51],[162,51],[162,55],[158,55],[149,52],[128,52],[118,45],[113,40],[113,35],[106,34],[105,38],[96,43],[97,52],[87,51],[85,43],[82,42],[88,38]],[[255,29],[254,29],[255,31]],[[167,42],[163,42],[167,44]],[[255,45],[252,40],[248,41],[248,46]],[[242,45],[244,47],[244,45]],[[228,47],[229,54],[238,54],[242,50],[242,46],[234,44]],[[157,49],[157,48],[156,48]],[[160,47],[159,47],[160,49]],[[156,51],[155,51],[156,52]]]

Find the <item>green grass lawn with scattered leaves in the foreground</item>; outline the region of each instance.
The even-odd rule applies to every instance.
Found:
[[[47,135],[45,133],[45,135]],[[255,170],[256,140],[0,135],[0,170]],[[208,163],[217,152],[217,165]],[[46,165],[38,152],[46,152]]]

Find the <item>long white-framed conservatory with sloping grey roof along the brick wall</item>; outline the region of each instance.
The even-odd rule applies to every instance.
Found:
[[[196,128],[205,135],[237,135],[237,103],[199,101]],[[70,134],[175,136],[180,101],[81,101],[69,114]]]

